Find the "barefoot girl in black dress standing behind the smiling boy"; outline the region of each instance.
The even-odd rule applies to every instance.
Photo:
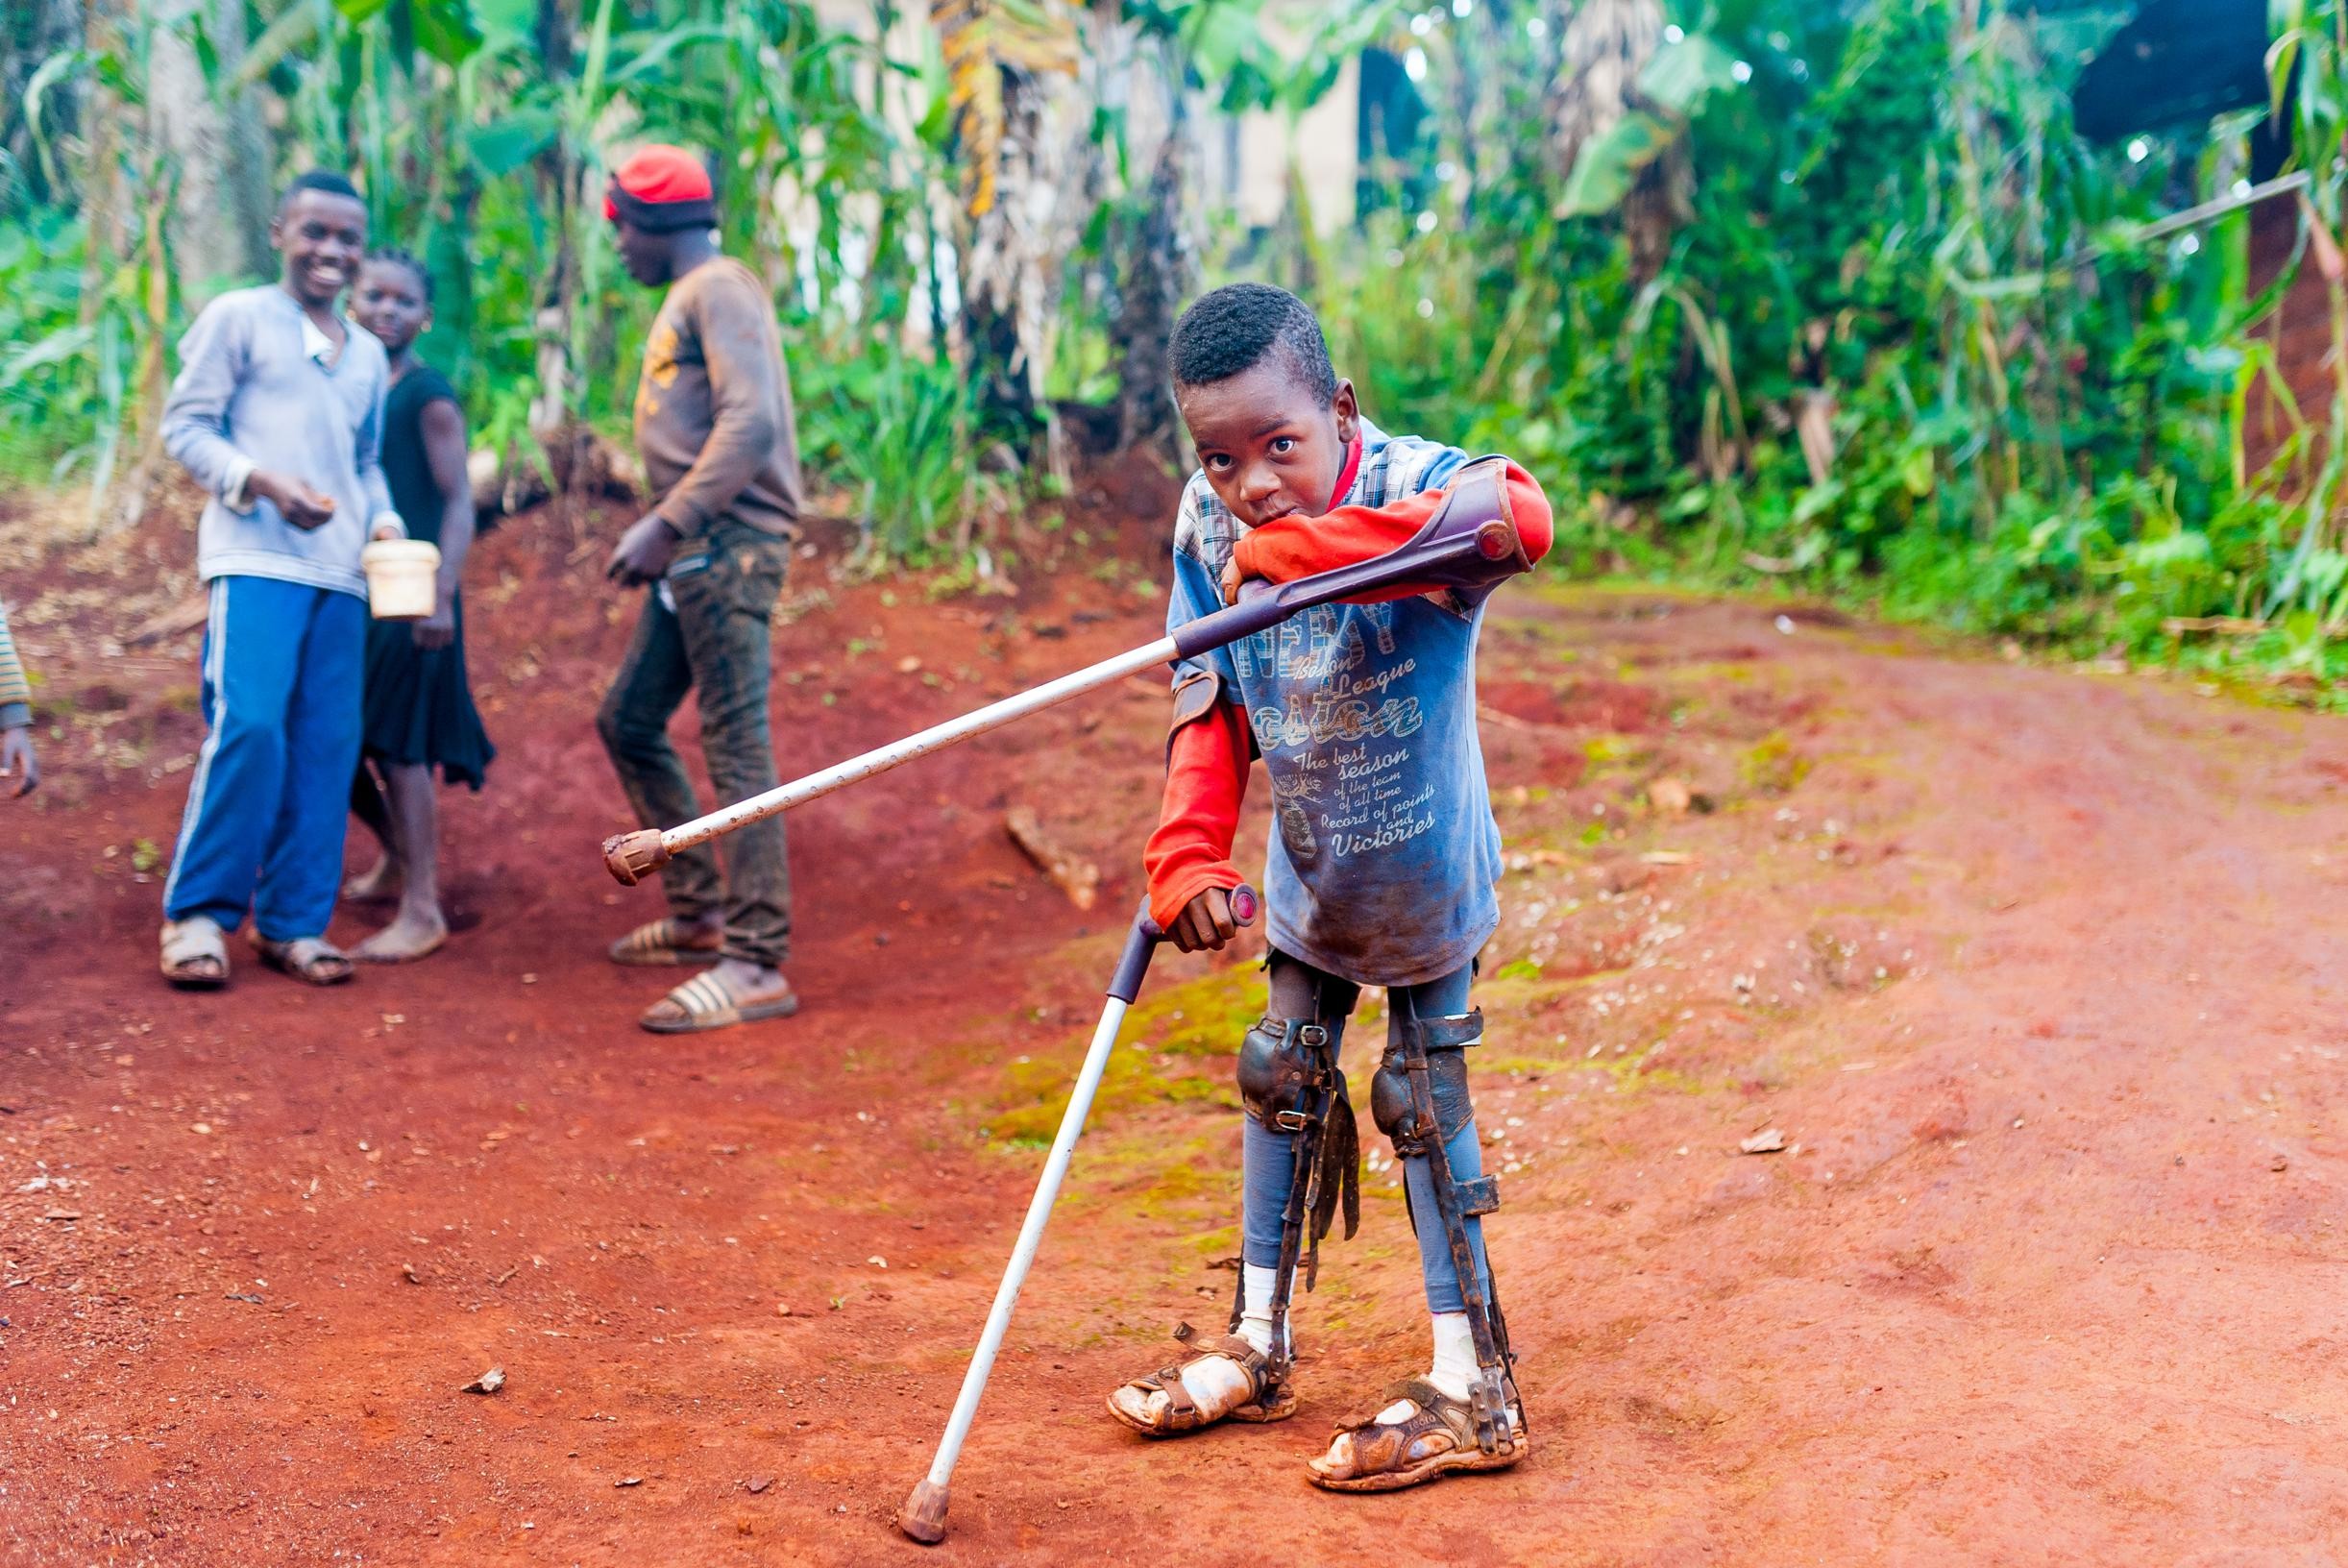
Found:
[[[465,683],[465,606],[458,577],[472,547],[465,413],[448,380],[423,364],[416,333],[432,324],[432,277],[406,251],[376,251],[359,268],[350,315],[383,340],[392,392],[383,404],[383,474],[411,540],[441,552],[439,608],[430,620],[366,627],[366,739],[350,805],[383,840],[383,861],[343,892],[390,899],[399,915],[352,948],[369,962],[409,962],[448,939],[439,906],[439,805],[432,768],[481,789],[495,749]]]

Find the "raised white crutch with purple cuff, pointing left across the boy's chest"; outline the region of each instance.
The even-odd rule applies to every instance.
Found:
[[[1507,465],[1500,458],[1477,458],[1451,479],[1449,495],[1428,526],[1421,528],[1406,545],[1399,545],[1383,556],[1315,573],[1310,577],[1296,577],[1294,582],[1282,582],[1277,587],[1249,582],[1240,603],[1221,608],[1214,615],[1200,615],[1190,624],[1179,627],[1172,636],[1162,636],[1155,643],[1134,648],[1132,653],[1120,653],[1057,681],[1045,681],[1043,685],[1005,697],[1003,702],[991,702],[981,709],[963,714],[960,718],[935,723],[918,735],[890,742],[888,746],[878,746],[864,756],[852,756],[845,763],[834,763],[831,768],[810,772],[803,779],[777,784],[765,793],[737,800],[681,826],[643,829],[606,838],[603,866],[625,887],[634,887],[653,871],[667,866],[669,857],[679,850],[709,843],[718,833],[730,833],[747,822],[758,822],[763,817],[787,812],[794,805],[805,805],[808,800],[829,796],[836,789],[869,779],[876,772],[888,772],[899,763],[911,763],[916,756],[944,751],[946,746],[970,739],[972,735],[986,735],[989,730],[998,730],[1014,718],[1026,718],[1028,714],[1038,714],[1047,707],[1066,702],[1068,697],[1080,697],[1082,692],[1099,690],[1101,685],[1111,685],[1125,676],[1141,674],[1153,664],[1172,664],[1176,660],[1207,653],[1209,648],[1235,643],[1242,636],[1254,636],[1256,631],[1277,627],[1289,615],[1317,603],[1374,594],[1406,582],[1430,589],[1482,589],[1522,570],[1531,570],[1531,559],[1524,554],[1524,542],[1517,538],[1517,523],[1507,514]]]

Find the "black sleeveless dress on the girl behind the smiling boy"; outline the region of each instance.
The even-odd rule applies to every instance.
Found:
[[[423,415],[427,404],[444,397],[456,401],[448,378],[418,364],[392,383],[383,401],[383,477],[392,486],[392,507],[406,521],[411,540],[434,545],[446,498],[432,484]],[[453,608],[456,641],[446,648],[418,648],[416,622],[366,622],[364,749],[380,763],[437,765],[451,784],[481,789],[481,775],[498,749],[488,744],[465,683],[463,594]]]

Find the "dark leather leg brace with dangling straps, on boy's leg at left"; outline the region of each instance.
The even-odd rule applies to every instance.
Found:
[[[1322,1014],[1315,986],[1313,1012]],[[1280,1385],[1289,1376],[1289,1282],[1303,1261],[1305,1289],[1320,1277],[1320,1239],[1329,1235],[1338,1207],[1345,1209],[1345,1239],[1362,1223],[1362,1141],[1345,1096],[1345,1075],[1336,1068],[1336,1042],[1320,1019],[1263,1019],[1240,1042],[1240,1103],[1247,1117],[1289,1141],[1289,1202],[1280,1214],[1280,1265],[1273,1275],[1273,1350],[1268,1378]],[[1310,1221],[1310,1228],[1308,1228]],[[1247,1270],[1230,1303],[1230,1331],[1240,1331],[1247,1305]]]

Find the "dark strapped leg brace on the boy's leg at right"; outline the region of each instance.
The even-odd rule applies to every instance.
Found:
[[[1468,1012],[1446,1019],[1421,1019],[1404,991],[1388,991],[1395,1009],[1392,1040],[1371,1080],[1369,1108],[1378,1129],[1395,1141],[1404,1160],[1425,1157],[1435,1188],[1435,1218],[1451,1249],[1451,1268],[1468,1303],[1468,1329],[1475,1336],[1477,1380],[1468,1390],[1475,1413],[1477,1446],[1498,1453],[1514,1437],[1510,1404],[1517,1401],[1517,1352],[1507,1347],[1507,1319],[1500,1296],[1477,1268],[1468,1239],[1468,1218],[1500,1207],[1500,1178],[1477,1176],[1453,1181],[1451,1136],[1475,1117],[1468,1103],[1465,1047],[1484,1038],[1484,1014]],[[1411,1211],[1411,1230],[1421,1216]]]

